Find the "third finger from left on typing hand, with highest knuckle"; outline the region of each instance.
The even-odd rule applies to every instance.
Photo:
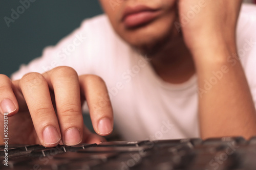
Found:
[[[62,142],[66,145],[80,143],[83,117],[76,71],[71,67],[57,67],[44,76],[54,90]]]

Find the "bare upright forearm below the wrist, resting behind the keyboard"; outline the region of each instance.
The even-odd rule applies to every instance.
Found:
[[[226,49],[211,46],[196,57],[202,138],[256,135],[256,113],[243,68],[236,58],[228,60],[236,50]]]

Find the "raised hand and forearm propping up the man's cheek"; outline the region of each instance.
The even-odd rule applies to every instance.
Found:
[[[178,6],[198,76],[201,137],[256,135],[256,111],[236,46],[241,0],[180,0]]]

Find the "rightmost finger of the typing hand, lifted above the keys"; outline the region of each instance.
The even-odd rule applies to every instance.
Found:
[[[113,110],[104,81],[94,75],[79,77],[81,90],[86,96],[93,128],[99,135],[113,130]]]

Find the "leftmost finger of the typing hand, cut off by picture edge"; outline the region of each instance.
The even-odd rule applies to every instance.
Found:
[[[13,116],[18,112],[18,102],[12,90],[12,82],[5,75],[0,75],[0,80],[1,114],[7,113],[8,116]]]

